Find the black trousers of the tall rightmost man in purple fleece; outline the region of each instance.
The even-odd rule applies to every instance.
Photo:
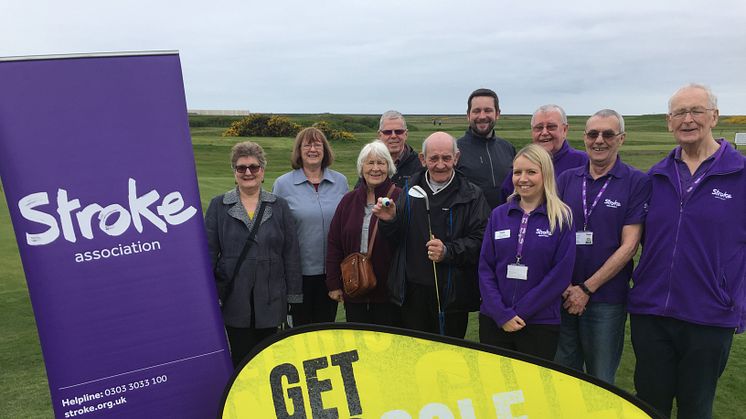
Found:
[[[639,314],[630,327],[637,397],[666,417],[675,398],[679,419],[711,418],[735,329]]]

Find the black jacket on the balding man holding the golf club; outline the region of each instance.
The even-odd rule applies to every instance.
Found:
[[[424,173],[422,170],[414,175],[411,184],[423,184]],[[442,208],[449,212],[448,225],[433,224],[433,231],[448,231],[446,237],[440,237],[446,246],[445,258],[436,264],[440,298],[444,311],[477,311],[480,301],[477,265],[490,208],[482,191],[463,174],[456,171],[453,182],[452,186],[458,192],[448,208]],[[408,192],[404,190],[399,195],[396,218],[381,221],[378,227],[389,242],[398,245],[391,262],[388,285],[391,301],[399,306],[404,303],[406,295],[407,261],[413,257],[427,257],[424,251],[418,255],[406,254],[406,241],[410,235],[427,232],[424,200],[411,198]],[[433,218],[433,223],[437,219]]]

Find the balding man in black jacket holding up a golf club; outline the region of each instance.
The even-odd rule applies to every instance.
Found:
[[[398,248],[389,293],[413,330],[463,338],[479,309],[476,267],[490,208],[482,191],[456,172],[456,139],[436,132],[422,143],[422,171],[396,204],[373,207],[381,233]]]

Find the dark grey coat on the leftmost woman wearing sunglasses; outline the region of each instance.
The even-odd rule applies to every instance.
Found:
[[[266,191],[260,200],[266,207],[259,231],[236,276],[233,293],[223,303],[223,319],[232,327],[251,325],[252,305],[256,328],[279,326],[287,315],[287,304],[303,298],[298,238],[288,204]],[[216,278],[233,275],[254,221],[241,204],[238,189],[210,201],[205,226]]]

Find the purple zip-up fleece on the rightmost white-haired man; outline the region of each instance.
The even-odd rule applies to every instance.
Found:
[[[677,150],[650,169],[652,197],[628,309],[744,330],[746,158],[727,141],[682,201]]]

